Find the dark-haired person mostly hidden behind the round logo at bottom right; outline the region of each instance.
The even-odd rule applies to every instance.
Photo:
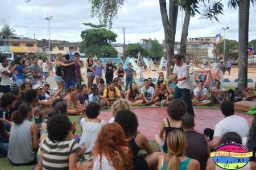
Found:
[[[229,143],[229,142],[236,142],[236,143],[242,144],[241,136],[238,135],[236,132],[227,132],[226,134],[224,134],[222,136],[220,143]],[[218,167],[218,165],[216,165],[216,163],[213,162],[213,157],[210,157],[207,160],[207,167],[206,167],[206,169],[207,170],[215,170],[215,169],[224,169],[224,168]],[[251,160],[249,162],[247,161],[247,164],[244,167],[242,167],[241,169],[247,169],[247,170],[254,170],[254,169],[256,169],[255,161],[251,161]]]

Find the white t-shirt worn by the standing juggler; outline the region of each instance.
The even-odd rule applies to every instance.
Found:
[[[186,80],[178,81],[177,86],[180,89],[191,89],[191,83],[189,80],[189,71],[188,71],[188,65],[183,63],[181,67],[177,66],[176,64],[174,65],[174,74],[177,74],[177,78],[181,77],[187,77]]]

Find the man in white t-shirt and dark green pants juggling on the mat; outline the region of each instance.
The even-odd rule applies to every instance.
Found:
[[[183,63],[182,59],[185,59],[184,55],[176,54],[172,57],[174,60],[174,73],[172,75],[172,81],[177,81],[177,87],[174,92],[174,98],[180,98],[187,104],[187,113],[195,116],[192,102],[191,102],[191,83],[189,80],[188,65]]]

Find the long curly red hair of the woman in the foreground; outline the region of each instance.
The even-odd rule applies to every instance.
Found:
[[[126,147],[129,150],[125,150]],[[125,139],[125,133],[118,123],[108,123],[101,128],[93,147],[93,155],[100,156],[100,169],[102,169],[102,155],[106,156],[115,169],[132,169],[133,154]]]

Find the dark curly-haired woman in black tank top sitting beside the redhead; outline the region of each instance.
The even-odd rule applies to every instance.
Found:
[[[158,165],[158,157],[163,153],[154,152],[148,143],[147,137],[138,132],[137,116],[130,110],[118,111],[115,122],[122,127],[131,152],[133,152],[133,169],[155,168]],[[146,151],[146,157],[138,155],[141,147]]]

